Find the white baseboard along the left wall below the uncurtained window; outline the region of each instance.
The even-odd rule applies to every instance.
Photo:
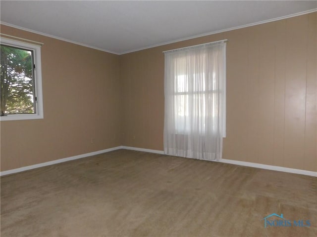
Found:
[[[57,163],[61,163],[61,162],[66,162],[66,161],[73,160],[73,159],[91,157],[91,156],[95,156],[95,155],[98,155],[98,154],[115,151],[115,150],[118,150],[118,149],[122,149],[122,146],[112,147],[112,148],[108,148],[108,149],[105,149],[105,150],[100,150],[100,151],[96,151],[96,152],[90,152],[90,153],[81,154],[81,155],[77,155],[77,156],[73,156],[73,157],[55,159],[55,160],[52,160],[52,161],[39,163],[39,164],[33,164],[33,165],[29,165],[29,166],[24,166],[24,167],[21,167],[21,168],[5,170],[5,171],[1,171],[0,172],[0,176],[7,175],[7,174],[18,173],[18,172],[22,172],[22,171],[25,171],[25,170],[35,169],[35,168],[48,166],[48,165],[52,165],[52,164],[57,164]]]

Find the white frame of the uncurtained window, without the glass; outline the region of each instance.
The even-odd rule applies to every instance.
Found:
[[[7,46],[19,47],[22,49],[27,49],[33,51],[34,58],[34,87],[35,96],[34,103],[36,106],[36,114],[14,114],[0,116],[0,121],[8,120],[25,120],[25,119],[41,119],[44,118],[43,114],[43,93],[42,93],[42,69],[41,69],[41,46],[26,42],[21,42],[18,40],[11,40],[6,38],[1,38],[0,43]]]

